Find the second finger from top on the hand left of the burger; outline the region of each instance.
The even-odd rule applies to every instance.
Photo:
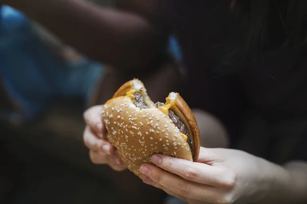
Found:
[[[83,141],[84,144],[92,150],[103,151],[108,155],[114,154],[114,147],[106,140],[98,139],[90,130],[89,126],[85,127]]]

